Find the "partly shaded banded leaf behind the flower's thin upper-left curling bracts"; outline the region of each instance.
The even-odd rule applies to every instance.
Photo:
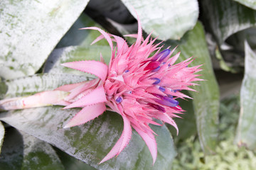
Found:
[[[44,73],[50,74],[76,74],[95,77],[92,74],[85,74],[75,69],[63,67],[60,64],[65,62],[74,62],[81,60],[100,60],[100,54],[104,58],[106,64],[110,62],[111,51],[107,40],[100,40],[95,45],[91,45],[101,34],[97,30],[78,30],[90,26],[100,26],[92,21],[84,13],[75,21],[75,24],[68,30],[68,33],[60,40],[57,47],[53,50],[43,68]],[[68,47],[69,46],[69,47]]]

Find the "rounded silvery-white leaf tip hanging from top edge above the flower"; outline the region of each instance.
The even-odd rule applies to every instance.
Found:
[[[122,0],[135,18],[139,15],[142,28],[160,40],[179,40],[187,30],[193,29],[198,19],[196,0]],[[135,8],[135,10],[134,10]]]

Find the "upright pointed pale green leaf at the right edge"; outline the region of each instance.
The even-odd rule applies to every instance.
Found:
[[[256,149],[256,53],[245,42],[245,76],[240,91],[240,118],[235,141]]]

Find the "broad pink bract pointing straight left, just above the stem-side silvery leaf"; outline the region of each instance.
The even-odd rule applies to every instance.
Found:
[[[61,65],[65,67],[69,67],[71,69],[77,69],[81,72],[95,74],[95,76],[100,77],[100,79],[102,79],[103,81],[107,77],[107,65],[102,62],[79,61],[79,62],[66,62]]]

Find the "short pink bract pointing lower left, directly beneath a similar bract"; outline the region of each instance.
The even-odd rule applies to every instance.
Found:
[[[76,125],[82,125],[88,121],[98,117],[106,110],[105,103],[97,103],[90,106],[85,106],[82,110],[77,113],[64,128],[70,128]]]

